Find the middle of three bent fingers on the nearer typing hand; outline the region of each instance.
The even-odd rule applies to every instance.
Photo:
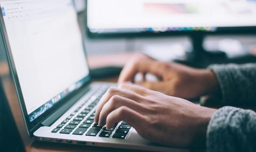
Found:
[[[99,125],[105,125],[106,117],[109,115],[109,113],[121,106],[129,107],[140,113],[144,113],[145,111],[145,107],[143,107],[140,103],[128,98],[115,95],[111,97],[111,99],[103,106],[99,116]]]

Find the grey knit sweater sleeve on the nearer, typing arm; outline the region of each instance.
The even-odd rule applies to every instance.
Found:
[[[255,152],[256,113],[225,106],[214,113],[207,129],[208,152]]]

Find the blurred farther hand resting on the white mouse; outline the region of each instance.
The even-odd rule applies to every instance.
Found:
[[[178,63],[158,62],[140,54],[127,62],[118,83],[134,82],[134,76],[141,72],[155,74],[159,82],[143,81],[138,84],[148,89],[185,99],[197,98],[218,90],[214,73],[208,69],[195,69]]]

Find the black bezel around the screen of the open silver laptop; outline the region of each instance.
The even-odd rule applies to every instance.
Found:
[[[73,3],[73,7],[74,7],[74,1],[72,0]],[[0,5],[1,7],[1,5]],[[75,8],[74,8],[75,9]],[[67,101],[69,101],[70,97],[73,96],[77,91],[81,90],[82,88],[84,88],[85,86],[87,86],[90,82],[91,82],[91,76],[90,76],[90,72],[88,73],[88,75],[83,78],[88,80],[87,82],[85,82],[81,87],[79,87],[78,89],[74,90],[73,92],[71,92],[69,95],[67,95],[66,97],[64,97],[63,99],[61,99],[58,103],[56,103],[53,107],[51,107],[50,109],[48,109],[46,112],[44,112],[43,114],[41,114],[39,117],[37,117],[36,119],[34,119],[33,121],[29,121],[29,117],[28,117],[28,113],[27,113],[27,109],[25,106],[25,101],[23,98],[23,94],[22,94],[22,90],[19,84],[19,79],[18,79],[18,75],[17,75],[17,71],[16,71],[16,67],[14,64],[14,59],[13,59],[13,55],[12,55],[12,50],[11,50],[11,46],[10,46],[10,42],[9,42],[9,38],[8,38],[8,34],[6,31],[6,27],[5,27],[5,23],[3,20],[3,15],[2,13],[0,14],[0,30],[1,30],[1,36],[3,38],[3,44],[4,44],[4,49],[6,52],[6,58],[9,64],[9,69],[10,69],[10,73],[13,79],[13,83],[15,86],[15,91],[17,94],[17,98],[18,98],[18,102],[19,102],[19,106],[23,115],[23,119],[25,122],[25,126],[26,129],[28,131],[28,134],[30,137],[33,137],[33,132],[35,130],[37,130],[38,128],[40,128],[41,122],[43,120],[45,120],[48,116],[50,116],[55,109],[58,109],[59,107],[61,107],[62,105],[64,105]],[[81,24],[79,22],[79,18],[77,16],[77,23],[79,24],[80,27],[80,31],[81,31],[81,39],[83,41],[83,50],[85,53],[85,58],[87,58],[87,54],[85,51],[85,45],[84,45],[84,34],[82,33],[82,29],[81,29]],[[86,60],[86,64],[88,65],[88,60]]]

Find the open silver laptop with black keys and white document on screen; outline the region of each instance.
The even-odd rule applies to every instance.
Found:
[[[187,151],[145,140],[124,121],[109,130],[93,122],[97,103],[116,84],[91,82],[72,0],[0,0],[0,6],[6,54],[31,138],[86,146]]]

